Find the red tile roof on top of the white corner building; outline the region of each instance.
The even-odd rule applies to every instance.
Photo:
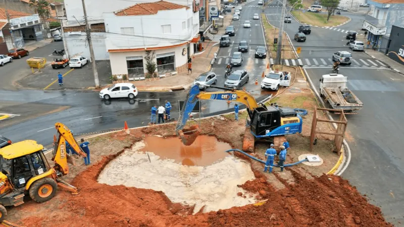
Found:
[[[169,3],[165,1],[159,1],[155,3],[141,3],[134,6],[128,7],[126,9],[115,12],[117,16],[138,16],[138,15],[152,15],[157,14],[160,10],[176,10],[186,8],[186,6],[181,6],[174,3]]]

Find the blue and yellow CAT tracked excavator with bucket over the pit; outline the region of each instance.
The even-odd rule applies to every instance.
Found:
[[[293,109],[257,103],[255,98],[244,90],[213,85],[210,85],[210,87],[225,91],[201,92],[196,84],[190,88],[187,94],[175,129],[177,136],[180,137],[184,145],[191,145],[201,132],[199,124],[194,124],[188,129],[184,129],[199,99],[235,101],[247,106],[249,121],[247,121],[243,139],[243,150],[246,152],[254,152],[256,140],[269,140],[274,143],[275,149],[279,149],[283,142],[286,141],[284,135],[301,133],[303,121]]]

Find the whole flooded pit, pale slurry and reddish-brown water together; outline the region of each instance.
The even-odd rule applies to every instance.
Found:
[[[98,182],[163,191],[172,202],[195,204],[194,212],[203,206],[209,212],[256,202],[254,194],[237,187],[253,180],[254,173],[249,163],[222,154],[230,145],[207,136],[197,139],[194,147],[180,145],[179,140],[146,137],[112,160]]]

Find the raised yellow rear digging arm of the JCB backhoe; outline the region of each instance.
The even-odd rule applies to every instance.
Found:
[[[67,164],[66,142],[70,147],[81,157],[87,157],[87,154],[81,149],[80,145],[76,142],[72,132],[64,124],[57,122],[55,124],[57,130],[53,157],[55,161],[55,169],[62,175],[69,174],[69,166]]]

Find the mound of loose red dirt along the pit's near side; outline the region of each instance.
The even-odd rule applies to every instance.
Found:
[[[98,174],[117,155],[105,157],[74,179],[72,184],[82,189],[79,195],[59,192],[62,195],[54,200],[64,200],[58,209],[41,208],[45,217],[46,213],[51,216],[27,217],[21,224],[30,227],[392,226],[385,222],[380,209],[370,205],[346,180],[326,175],[307,180],[292,169],[295,184],[284,183],[285,189],[279,191],[268,185],[261,173],[255,173],[256,180],[240,186],[259,193],[260,199],[268,199],[263,205],[192,215],[193,207],[172,203],[163,192],[97,183]]]

